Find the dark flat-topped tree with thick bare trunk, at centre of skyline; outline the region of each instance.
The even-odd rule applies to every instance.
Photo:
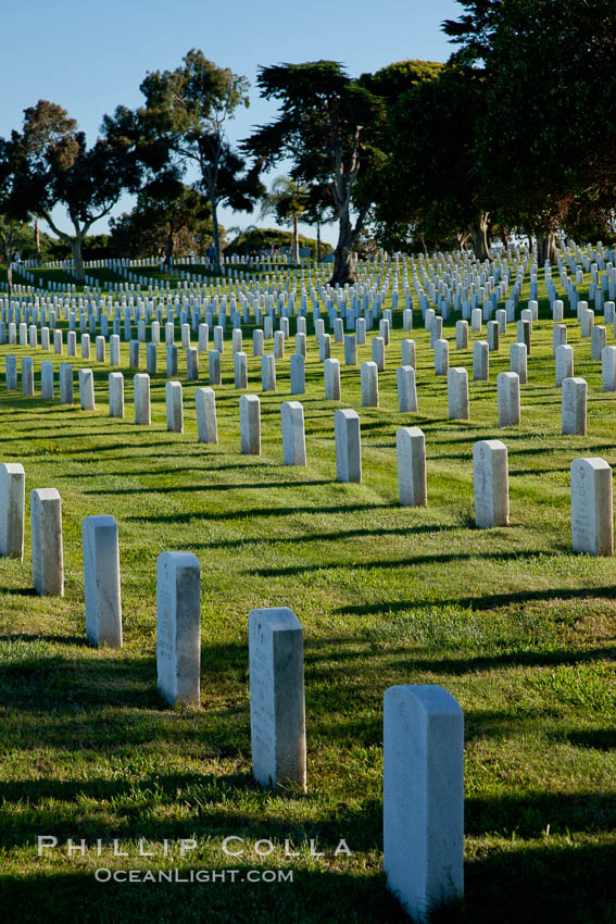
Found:
[[[353,241],[369,204],[362,203],[353,224],[353,189],[379,154],[382,100],[336,61],[262,67],[256,82],[265,99],[279,100],[280,113],[246,138],[242,149],[265,168],[290,158],[297,182],[329,184],[339,220],[331,284],[355,282]]]

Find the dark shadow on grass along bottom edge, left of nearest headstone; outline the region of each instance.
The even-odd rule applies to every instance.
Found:
[[[126,867],[125,861],[124,866]],[[110,866],[115,867],[115,863]],[[214,883],[97,883],[90,873],[41,872],[20,881],[0,882],[0,898],[7,908],[20,909],[20,922],[88,921],[91,924],[126,924],[147,920],[160,924],[403,924],[410,922],[397,899],[386,889],[380,873],[357,875],[340,871],[294,869],[292,882],[249,882],[249,873],[261,869],[246,858],[221,857],[209,869],[237,872],[232,882]],[[152,869],[178,870],[188,878],[186,859],[171,864],[150,862]],[[263,869],[274,871],[275,857]],[[291,866],[291,869],[293,869]],[[84,910],[87,909],[87,917]],[[45,911],[45,915],[41,912]],[[454,919],[439,919],[442,924]],[[437,922],[435,921],[435,924]]]

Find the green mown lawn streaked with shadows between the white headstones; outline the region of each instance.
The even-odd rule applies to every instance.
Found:
[[[60,491],[66,582],[62,599],[32,590],[27,516],[24,562],[0,561],[0,906],[9,920],[406,920],[381,870],[382,697],[394,684],[440,684],[465,719],[465,900],[443,920],[616,921],[616,560],[571,552],[569,491],[574,459],[616,464],[615,394],[602,392],[601,362],[591,362],[590,339],[566,309],[575,374],[589,384],[588,436],[561,436],[544,300],[520,427],[500,429],[496,410],[515,325],[490,353],[486,383],[472,380],[473,342],[485,329],[456,351],[455,321],[445,322],[450,365],[470,373],[470,421],[450,421],[447,377],[433,374],[420,312],[408,333],[401,315],[379,408],[361,407],[360,369],[344,366],[334,337],[342,401],[324,400],[309,315],[306,394],[296,396],[305,469],[282,465],[292,349],[277,362],[277,391],[262,392],[250,326],[261,457],[240,455],[229,332],[215,389],[218,446],[197,441],[203,358],[200,380],[188,383],[179,351],[179,435],[166,430],[164,372],[152,376],[152,425],[133,423],[125,342],[125,420],[108,415],[108,366],[72,360],[95,371],[97,411],[84,412],[40,400],[40,360],[61,358],[2,348],[2,363],[7,352],[18,362],[33,355],[37,370],[34,399],[0,387],[2,461],[23,463],[26,497],[35,487]],[[357,348],[359,363],[372,359],[377,333]],[[398,410],[403,337],[417,344],[416,414]],[[336,482],[337,408],[361,417],[361,485]],[[426,435],[426,508],[399,505],[399,426]],[[508,449],[511,523],[477,529],[473,445],[493,438]],[[81,520],[102,513],[120,527],[120,651],[85,637]],[[156,694],[155,574],[165,550],[192,551],[201,563],[199,709],[168,709]],[[251,775],[248,614],[261,607],[290,607],[304,628],[306,794],[273,795]],[[58,847],[37,856],[39,835]],[[243,838],[230,846],[241,857],[223,852],[228,836]],[[86,856],[67,857],[68,838],[85,839]],[[180,857],[180,838],[197,848]],[[113,857],[113,839],[128,858]],[[138,856],[140,839],[153,857]],[[350,856],[335,856],[341,839]],[[260,840],[274,844],[271,856],[259,856]],[[286,854],[285,840],[299,856]],[[323,856],[311,856],[311,841]],[[102,884],[100,867],[239,872],[235,883]],[[247,881],[266,870],[292,871],[293,881]]]

